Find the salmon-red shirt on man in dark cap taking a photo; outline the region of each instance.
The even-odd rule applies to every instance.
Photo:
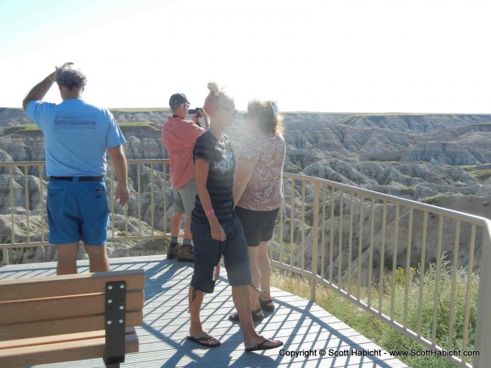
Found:
[[[162,143],[170,159],[170,180],[180,189],[194,179],[193,149],[196,139],[206,130],[180,116],[168,118],[162,126]]]

